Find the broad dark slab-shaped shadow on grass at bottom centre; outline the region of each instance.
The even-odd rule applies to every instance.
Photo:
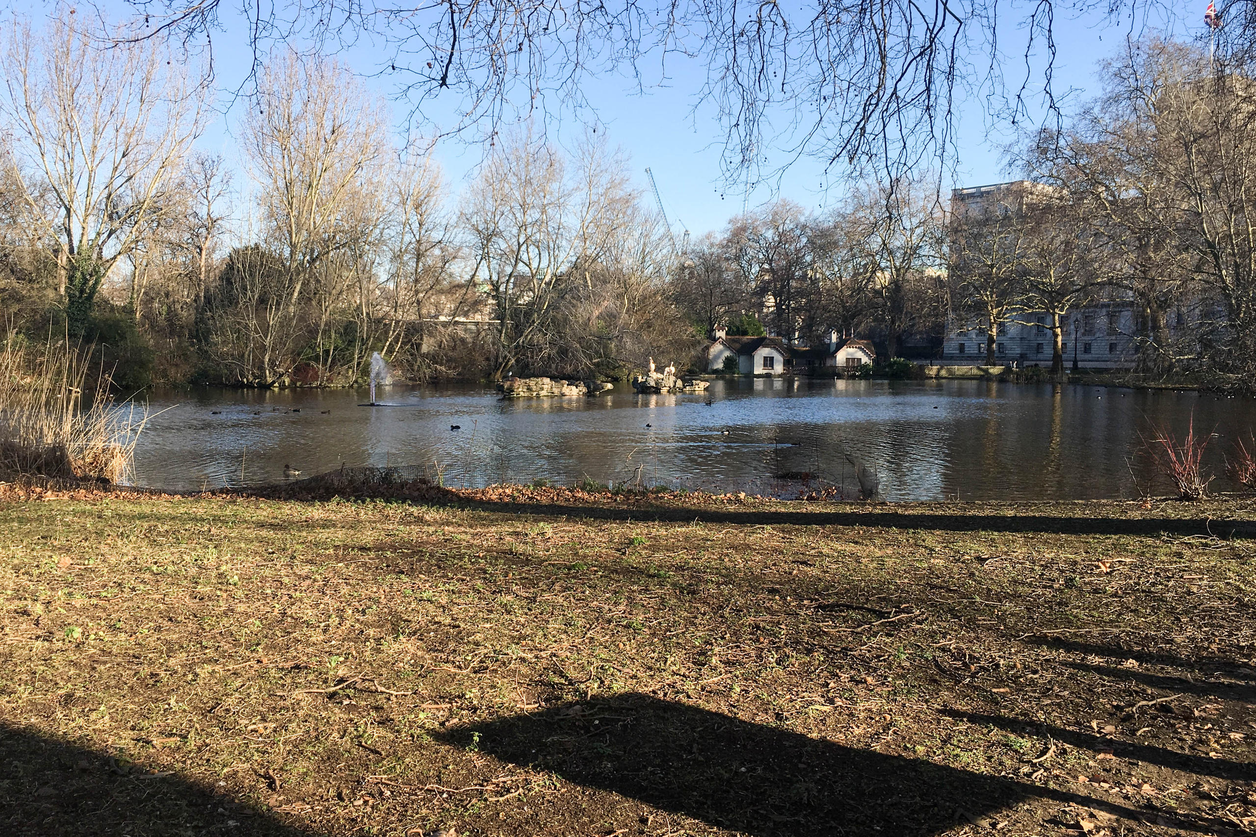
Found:
[[[1145,812],[1075,793],[887,755],[624,694],[442,735],[519,765],[754,834],[937,834],[1034,797]],[[1174,816],[1184,831],[1211,821]]]

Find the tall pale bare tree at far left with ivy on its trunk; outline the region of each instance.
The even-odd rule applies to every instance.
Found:
[[[82,329],[113,265],[158,223],[207,94],[162,40],[111,49],[58,13],[38,34],[13,24],[3,107],[15,162],[29,166],[13,176],[31,212],[53,218],[58,291]]]

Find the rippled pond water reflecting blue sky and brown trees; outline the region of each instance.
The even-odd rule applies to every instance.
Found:
[[[374,408],[359,405],[365,395],[160,393],[136,482],[195,489],[280,481],[285,464],[304,474],[391,464],[455,486],[638,477],[756,491],[813,473],[854,497],[849,457],[875,471],[885,499],[1084,499],[1153,484],[1139,438],[1152,422],[1181,430],[1193,413],[1197,429],[1218,434],[1207,457],[1218,474],[1228,439],[1256,427],[1248,399],[963,380],[732,379],[702,394],[526,400],[484,387],[384,387],[388,405]]]

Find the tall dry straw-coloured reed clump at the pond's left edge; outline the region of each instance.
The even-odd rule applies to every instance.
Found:
[[[64,344],[0,345],[0,476],[118,482],[131,468],[143,418],[109,395],[102,375],[84,398],[88,363]]]

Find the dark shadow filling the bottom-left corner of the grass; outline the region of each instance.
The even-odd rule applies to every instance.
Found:
[[[274,816],[176,776],[0,723],[0,833],[274,834]]]

